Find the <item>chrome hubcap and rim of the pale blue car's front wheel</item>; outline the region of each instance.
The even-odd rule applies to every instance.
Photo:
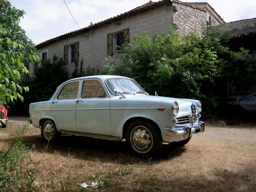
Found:
[[[136,126],[130,134],[130,142],[135,151],[139,153],[147,153],[153,144],[150,131],[144,126]]]

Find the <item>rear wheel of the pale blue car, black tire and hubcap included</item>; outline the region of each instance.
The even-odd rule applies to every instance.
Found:
[[[44,142],[52,143],[59,139],[59,137],[61,136],[61,133],[57,131],[53,120],[46,119],[42,122],[42,125],[41,125],[41,136]]]

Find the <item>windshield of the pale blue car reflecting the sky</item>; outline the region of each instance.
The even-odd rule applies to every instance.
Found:
[[[128,93],[145,93],[145,90],[140,87],[137,81],[123,78],[113,78],[106,80],[109,91],[115,95],[115,91],[119,90],[122,94]]]

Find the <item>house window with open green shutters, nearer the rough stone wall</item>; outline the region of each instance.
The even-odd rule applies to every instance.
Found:
[[[124,29],[122,31],[118,31],[116,33],[110,33],[108,34],[108,55],[116,54],[118,51],[118,48],[116,46],[122,47],[122,44],[124,47],[129,43],[130,41],[130,30]]]

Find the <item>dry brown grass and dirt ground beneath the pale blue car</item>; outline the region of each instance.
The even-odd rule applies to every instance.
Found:
[[[1,148],[13,130],[0,131]],[[23,143],[35,148],[23,164],[37,167],[37,191],[79,191],[96,181],[92,175],[109,184],[86,191],[256,191],[255,135],[256,126],[206,123],[186,146],[164,144],[154,157],[139,158],[124,141],[62,135],[47,146],[40,129],[30,128]]]

